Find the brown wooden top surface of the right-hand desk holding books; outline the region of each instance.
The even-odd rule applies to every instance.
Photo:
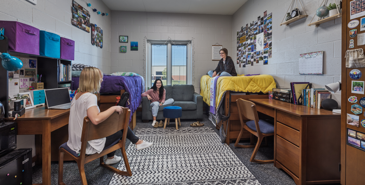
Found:
[[[341,117],[341,114],[339,113],[333,113],[332,111],[326,111],[324,109],[316,109],[316,108],[310,108],[306,106],[299,106],[290,104],[287,102],[282,102],[279,100],[270,100],[270,99],[249,99],[249,101],[252,101],[256,104],[265,105],[267,107],[271,107],[280,111],[285,111],[290,114],[294,114],[297,116],[313,116],[313,115],[331,115],[331,116],[338,116]]]

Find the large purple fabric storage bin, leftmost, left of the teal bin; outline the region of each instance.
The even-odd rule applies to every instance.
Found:
[[[9,51],[39,55],[39,29],[16,21],[0,21],[9,40]]]

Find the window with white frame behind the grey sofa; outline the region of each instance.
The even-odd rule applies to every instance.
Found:
[[[156,79],[161,79],[163,85],[191,84],[189,41],[148,40],[146,55],[147,87],[151,87]]]

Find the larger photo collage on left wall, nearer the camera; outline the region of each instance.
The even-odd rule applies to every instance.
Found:
[[[73,0],[72,6],[72,25],[90,33],[90,13],[84,7],[79,5],[77,2]]]

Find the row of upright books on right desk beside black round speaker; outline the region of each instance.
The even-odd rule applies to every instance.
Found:
[[[322,101],[330,98],[331,93],[324,88],[303,89],[303,105],[317,109],[322,108]]]

